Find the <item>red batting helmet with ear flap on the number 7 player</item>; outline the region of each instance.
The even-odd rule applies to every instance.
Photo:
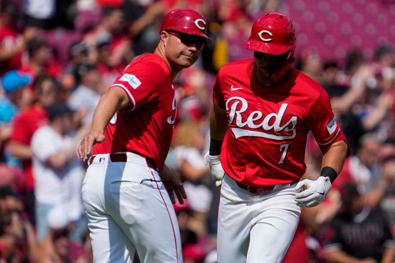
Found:
[[[271,12],[260,16],[252,25],[251,35],[244,47],[257,52],[281,55],[289,52],[283,66],[273,74],[279,79],[291,67],[294,61],[295,28],[292,21],[283,14]]]

